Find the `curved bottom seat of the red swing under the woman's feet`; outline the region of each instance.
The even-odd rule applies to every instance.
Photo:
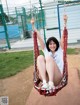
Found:
[[[55,89],[50,92],[50,90],[46,90],[46,89],[45,89],[45,90],[42,90],[42,89],[41,89],[41,83],[42,83],[42,81],[38,78],[37,81],[34,81],[34,88],[35,88],[41,95],[53,96],[53,95],[56,95],[56,93],[57,93],[58,91],[60,91],[63,87],[65,87],[65,86],[67,85],[67,83],[68,83],[67,79],[68,79],[68,75],[66,75],[66,73],[65,73],[65,74],[63,75],[63,78],[62,78],[60,84],[59,84],[58,86],[56,86]]]

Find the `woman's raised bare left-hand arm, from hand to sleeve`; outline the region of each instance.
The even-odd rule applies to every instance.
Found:
[[[33,30],[37,33],[37,38],[38,38],[38,40],[39,40],[41,49],[44,50],[44,48],[45,48],[44,41],[43,41],[43,39],[42,39],[42,37],[41,37],[39,31],[35,28],[34,22],[35,22],[35,21],[34,21],[34,19],[32,18],[32,19],[31,19],[32,28],[33,28]]]

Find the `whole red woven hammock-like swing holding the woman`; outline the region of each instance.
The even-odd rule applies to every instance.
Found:
[[[61,82],[59,83],[58,86],[55,87],[54,90],[52,90],[51,92],[49,90],[42,90],[41,86],[42,86],[42,81],[39,78],[39,71],[37,69],[37,57],[39,56],[39,47],[38,47],[38,43],[37,43],[37,33],[34,31],[33,32],[33,42],[34,42],[34,88],[41,94],[41,95],[45,95],[45,96],[54,96],[56,95],[57,92],[59,92],[63,87],[65,87],[68,83],[68,66],[67,66],[67,57],[66,57],[66,51],[67,51],[67,29],[66,27],[64,27],[63,30],[63,34],[64,34],[64,52],[63,52],[63,58],[64,58],[64,70],[63,70],[63,78],[61,80]]]

